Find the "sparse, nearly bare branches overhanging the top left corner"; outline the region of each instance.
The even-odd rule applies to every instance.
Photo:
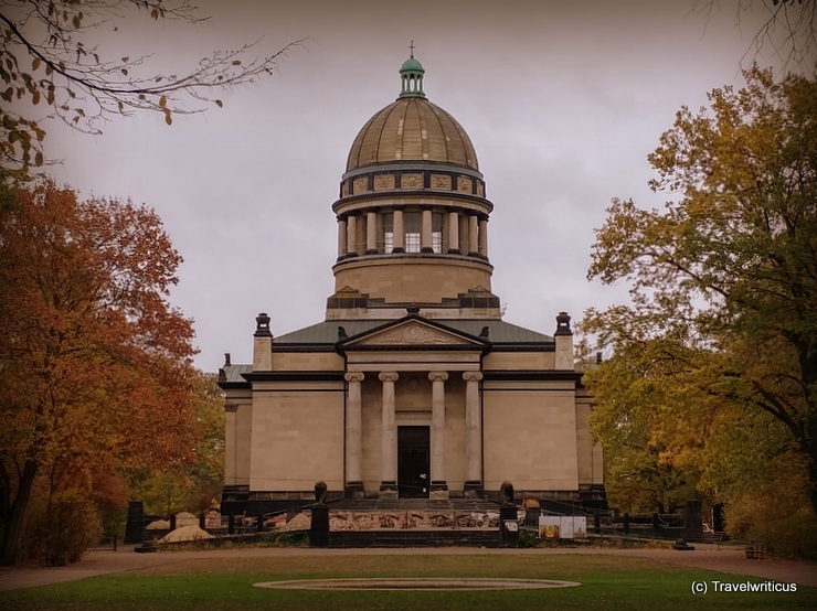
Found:
[[[135,14],[132,14],[135,13]],[[0,7],[0,159],[44,162],[43,111],[102,133],[115,115],[178,114],[222,106],[220,93],[272,74],[282,55],[248,58],[256,43],[217,51],[183,74],[149,72],[149,57],[112,49],[117,23],[132,19],[204,21],[188,0],[7,0]],[[106,45],[106,43],[108,43]]]

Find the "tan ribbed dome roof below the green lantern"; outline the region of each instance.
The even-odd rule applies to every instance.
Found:
[[[347,172],[395,161],[442,161],[479,171],[463,126],[423,97],[401,97],[369,119],[349,151]]]

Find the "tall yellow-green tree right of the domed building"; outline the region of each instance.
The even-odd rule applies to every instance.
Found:
[[[633,306],[584,321],[613,354],[593,374],[595,419],[634,399],[608,375],[628,361],[658,393],[637,400],[665,462],[708,464],[704,486],[729,467],[744,491],[799,469],[817,510],[817,83],[744,77],[682,108],[649,156],[652,189],[677,199],[616,200],[597,231],[588,277],[629,282]]]

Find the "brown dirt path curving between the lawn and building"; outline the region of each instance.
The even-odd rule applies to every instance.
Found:
[[[732,575],[760,577],[781,582],[795,582],[817,588],[817,566],[788,560],[747,560],[742,549],[717,549],[715,546],[696,546],[693,551],[672,549],[485,549],[469,547],[406,548],[406,549],[309,549],[296,547],[270,547],[251,549],[212,549],[202,551],[172,551],[159,554],[135,554],[132,547],[118,551],[94,550],[82,561],[68,567],[20,568],[0,570],[0,591],[35,588],[50,583],[74,581],[87,577],[126,572],[185,562],[191,559],[229,559],[303,556],[361,556],[400,554],[486,555],[517,554],[549,556],[559,554],[591,554],[603,556],[628,556],[649,558],[660,562],[697,567]]]

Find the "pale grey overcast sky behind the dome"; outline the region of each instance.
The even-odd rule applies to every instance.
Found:
[[[505,320],[552,334],[554,317],[626,299],[585,279],[593,229],[612,197],[660,207],[646,157],[682,106],[740,86],[762,19],[694,0],[195,2],[203,24],[128,17],[100,41],[112,56],[152,53],[153,74],[182,73],[211,50],[297,39],[277,74],[224,108],[118,118],[92,137],[47,126],[51,169],[83,196],[155,207],[184,257],[171,299],[195,320],[197,364],[252,360],[255,315],[275,335],[323,320],[333,292],[331,204],[364,122],[400,93],[408,43],[429,100],[469,133],[495,204],[492,289]],[[750,53],[751,58],[751,53]]]

